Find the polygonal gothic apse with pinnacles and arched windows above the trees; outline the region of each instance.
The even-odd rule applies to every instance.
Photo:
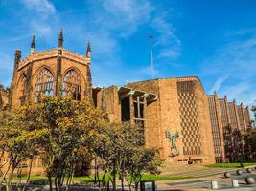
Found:
[[[40,95],[65,96],[75,99],[92,94],[90,74],[90,47],[86,55],[71,53],[62,47],[31,54],[21,60],[21,51],[15,53],[11,106],[17,107],[27,100],[37,100]]]

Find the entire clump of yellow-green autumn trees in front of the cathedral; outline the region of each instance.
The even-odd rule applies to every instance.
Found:
[[[0,115],[0,149],[8,160],[1,182],[5,180],[8,190],[14,170],[24,161],[32,164],[38,156],[46,168],[50,190],[53,183],[56,190],[62,190],[64,184],[68,189],[81,161],[89,165],[95,159],[99,188],[106,181],[108,186],[112,183],[113,190],[118,178],[123,190],[124,180],[130,189],[133,183],[137,189],[142,175],[156,173],[161,163],[156,149],[141,144],[137,125],[109,123],[105,112],[89,101],[46,96],[36,104],[27,103]],[[101,179],[99,172],[104,174]]]

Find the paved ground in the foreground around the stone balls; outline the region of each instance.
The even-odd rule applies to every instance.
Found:
[[[206,168],[200,165],[167,165],[162,168],[162,175],[193,177],[193,179],[186,180],[163,180],[157,181],[157,187],[159,191],[206,191],[211,190],[211,180],[218,182],[219,189],[224,191],[256,191],[256,184],[247,185],[244,179],[248,176],[252,176],[256,180],[256,171],[253,168],[252,173],[247,173],[246,169],[242,169],[243,174],[238,176],[234,168]],[[224,172],[230,172],[230,178],[224,178]],[[240,187],[232,188],[231,180],[238,180]],[[85,188],[87,187],[87,188]],[[89,186],[90,187],[90,186]],[[74,185],[71,190],[73,191],[86,191],[86,190],[98,190],[91,185]],[[32,189],[34,191],[48,190],[48,186],[36,186]],[[128,190],[128,187],[127,187]]]

